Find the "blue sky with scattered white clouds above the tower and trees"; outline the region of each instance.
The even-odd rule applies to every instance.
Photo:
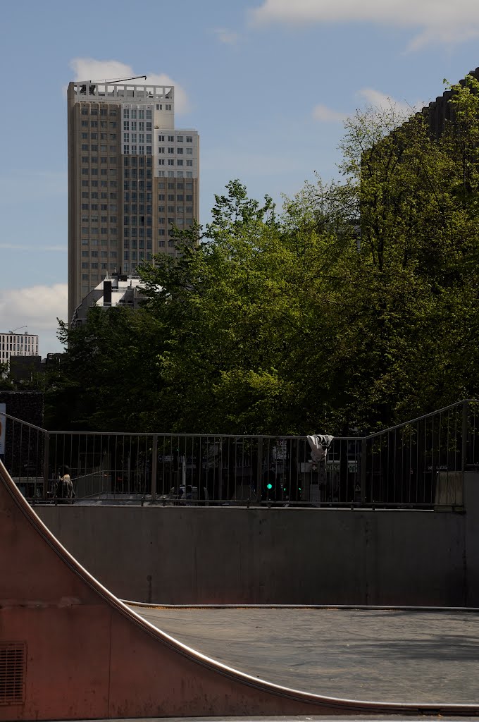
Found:
[[[0,331],[27,324],[42,355],[66,318],[69,80],[175,82],[207,222],[232,178],[281,204],[335,176],[343,117],[429,102],[479,66],[477,0],[17,0],[1,20]]]

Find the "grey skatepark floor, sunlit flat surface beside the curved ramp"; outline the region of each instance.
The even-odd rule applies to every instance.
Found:
[[[223,664],[317,695],[477,703],[479,612],[131,606]]]

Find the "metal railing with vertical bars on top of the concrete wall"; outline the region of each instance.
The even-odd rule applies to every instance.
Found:
[[[363,437],[334,438],[324,466],[306,437],[47,431],[6,415],[3,461],[33,503],[449,508],[479,466],[479,401]]]

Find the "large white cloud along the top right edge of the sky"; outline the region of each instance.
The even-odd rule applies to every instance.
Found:
[[[420,31],[409,45],[431,42],[457,43],[479,36],[477,0],[263,0],[251,11],[255,25],[282,22],[375,22]]]

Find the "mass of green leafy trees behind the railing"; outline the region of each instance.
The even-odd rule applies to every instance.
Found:
[[[61,326],[63,426],[338,434],[476,395],[479,84],[451,90],[439,137],[358,113],[343,181],[281,214],[232,181],[179,258],[141,269],[141,310]]]

